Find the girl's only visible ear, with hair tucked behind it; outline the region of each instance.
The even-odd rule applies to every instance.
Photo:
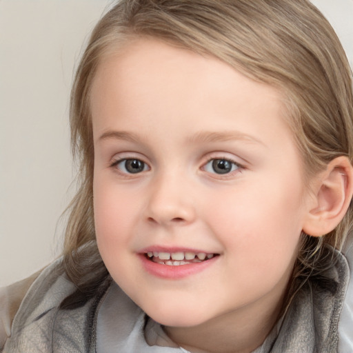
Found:
[[[303,224],[303,232],[323,236],[336,228],[350,207],[353,167],[347,157],[328,163],[314,182],[314,195]]]

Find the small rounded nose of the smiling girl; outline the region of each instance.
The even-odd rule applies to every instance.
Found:
[[[184,225],[192,223],[196,216],[191,185],[185,177],[168,174],[150,185],[147,219],[159,225]]]

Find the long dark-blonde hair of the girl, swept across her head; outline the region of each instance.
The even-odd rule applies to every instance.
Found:
[[[307,177],[335,157],[353,161],[352,72],[334,30],[309,1],[119,1],[94,28],[71,96],[72,150],[80,163],[80,187],[70,205],[63,264],[85,298],[108,276],[94,234],[90,86],[103,57],[136,36],[212,55],[281,90]],[[321,267],[323,245],[341,249],[352,217],[351,205],[330,234],[303,234],[293,276]]]

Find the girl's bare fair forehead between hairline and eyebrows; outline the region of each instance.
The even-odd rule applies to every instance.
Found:
[[[151,99],[154,104],[148,108]],[[157,39],[135,39],[106,56],[91,90],[93,118],[97,110],[101,116],[113,105],[119,108],[119,116],[125,108],[133,111],[144,106],[146,117],[155,114],[163,103],[174,103],[174,110],[188,108],[194,117],[203,114],[201,108],[222,114],[222,107],[229,108],[230,101],[234,114],[265,106],[283,115],[282,96],[270,85],[248,79],[219,59]],[[174,113],[168,111],[165,115],[172,117]],[[141,112],[136,112],[134,117],[139,115]]]

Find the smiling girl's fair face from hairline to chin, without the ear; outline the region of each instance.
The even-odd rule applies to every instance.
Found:
[[[165,325],[276,312],[310,199],[281,94],[140,39],[103,61],[91,103],[94,220],[113,279]],[[172,266],[150,252],[214,256]]]

